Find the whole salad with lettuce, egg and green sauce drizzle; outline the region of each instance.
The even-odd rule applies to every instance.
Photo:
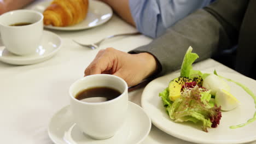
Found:
[[[213,74],[203,74],[200,70],[193,70],[192,64],[199,56],[192,53],[190,46],[185,53],[181,75],[170,81],[167,88],[159,96],[166,107],[168,116],[174,122],[194,122],[202,125],[203,131],[208,128],[216,128],[222,118],[222,111],[229,111],[238,106],[239,101],[230,93],[230,87],[214,70]],[[231,82],[230,79],[226,79]],[[241,83],[235,82],[247,93],[252,95],[256,105],[255,95]],[[255,107],[256,108],[256,107]],[[247,123],[256,120],[254,117]],[[231,126],[230,128],[242,127],[245,124]]]

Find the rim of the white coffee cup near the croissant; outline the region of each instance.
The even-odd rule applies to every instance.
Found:
[[[29,13],[38,14],[40,16],[40,19],[37,22],[31,23],[30,25],[26,25],[26,26],[15,26],[15,27],[13,27],[13,26],[9,26],[9,25],[3,25],[2,22],[0,22],[0,25],[2,25],[4,27],[11,27],[11,28],[28,27],[28,26],[36,25],[37,23],[43,21],[43,19],[44,19],[44,15],[42,13],[40,13],[39,11],[29,10],[29,9],[18,9],[18,10],[11,10],[11,11],[8,11],[7,13],[4,13],[4,14],[0,15],[0,20],[1,20],[1,17],[5,16],[5,15],[8,15],[10,13],[19,13],[19,11],[27,11]]]

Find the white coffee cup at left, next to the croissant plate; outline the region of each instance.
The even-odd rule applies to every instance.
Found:
[[[31,23],[24,26],[10,26]],[[36,53],[43,34],[43,15],[34,10],[14,10],[0,16],[0,32],[5,48],[16,55]]]

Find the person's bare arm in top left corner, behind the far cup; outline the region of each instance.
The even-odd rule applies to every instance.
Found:
[[[20,9],[32,1],[33,0],[2,0],[2,13],[5,13],[10,10]]]

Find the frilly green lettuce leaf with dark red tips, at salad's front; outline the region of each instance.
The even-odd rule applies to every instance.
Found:
[[[181,97],[168,105],[166,110],[174,122],[201,121],[203,131],[217,127],[221,117],[220,107],[213,105],[210,91],[198,86],[185,89]]]

